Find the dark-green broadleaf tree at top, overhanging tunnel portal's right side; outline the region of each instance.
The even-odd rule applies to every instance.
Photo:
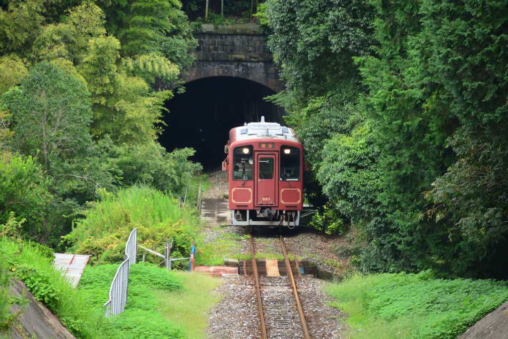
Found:
[[[363,0],[270,0],[268,46],[291,90],[321,96],[358,85],[351,58],[370,54],[374,9]]]

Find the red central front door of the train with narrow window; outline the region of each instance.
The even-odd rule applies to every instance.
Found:
[[[274,153],[256,153],[256,204],[277,205],[276,171],[277,157]]]

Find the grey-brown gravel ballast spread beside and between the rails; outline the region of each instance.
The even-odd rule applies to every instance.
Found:
[[[214,184],[204,197],[208,199],[223,199],[228,192],[226,175],[223,171],[215,171],[209,175],[210,182]],[[222,233],[235,233],[237,235],[248,234],[246,228],[239,226],[228,226],[221,229],[207,228],[203,231],[205,241],[213,242]],[[324,235],[310,228],[297,228],[293,231],[283,231],[284,242],[287,246],[288,254],[297,258],[306,258],[314,262],[322,270],[331,272],[335,278],[339,278],[342,271],[348,267],[348,258],[341,258],[335,251],[338,247],[348,245],[340,236]],[[278,233],[276,230],[255,232],[257,253],[279,254]],[[234,253],[250,253],[249,240],[237,240],[238,248]],[[206,329],[209,339],[244,339],[260,338],[260,319],[258,302],[254,288],[252,276],[224,276],[223,284],[213,293],[219,294],[221,300],[209,312],[209,326]],[[270,298],[288,298],[287,307],[281,307],[282,311],[277,310],[276,306],[271,307],[271,311],[265,311],[265,320],[267,321],[267,330],[269,338],[279,337],[303,337],[299,315],[296,309],[290,307],[294,299],[292,289],[287,276],[260,278],[262,288],[262,298],[267,302]],[[341,338],[342,333],[347,326],[343,325],[339,319],[345,317],[341,311],[335,307],[329,306],[336,301],[333,297],[322,291],[322,288],[329,284],[320,279],[314,279],[309,276],[295,276],[297,289],[300,296],[307,326],[313,338]],[[282,283],[282,284],[281,284]],[[266,290],[263,290],[266,288]],[[290,291],[288,291],[290,290]],[[284,293],[282,293],[284,292]],[[291,292],[291,293],[288,293]],[[285,301],[285,302],[286,302]],[[284,312],[284,310],[287,310]],[[276,314],[269,313],[282,312],[277,320]],[[292,314],[295,313],[295,314]],[[275,317],[273,317],[275,316]],[[283,319],[285,318],[285,319]],[[272,320],[270,320],[272,319]],[[293,326],[298,328],[285,328],[280,326],[277,329],[277,322],[283,324],[287,319],[294,319]],[[271,328],[270,328],[271,327]]]

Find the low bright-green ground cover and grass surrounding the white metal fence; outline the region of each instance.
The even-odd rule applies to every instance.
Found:
[[[108,300],[117,264],[87,266],[79,287],[73,288],[54,269],[52,251],[18,237],[21,225],[1,225],[0,329],[11,327],[18,314],[12,303],[24,306],[24,298],[9,293],[11,279],[22,280],[35,298],[59,316],[76,337],[97,338],[200,338],[204,337],[206,311],[218,299],[209,292],[219,280],[205,274],[171,272],[150,263],[131,266],[125,311],[106,319],[102,305]],[[199,297],[199,298],[197,298]],[[179,319],[181,315],[184,318]],[[184,328],[180,326],[184,326]]]

